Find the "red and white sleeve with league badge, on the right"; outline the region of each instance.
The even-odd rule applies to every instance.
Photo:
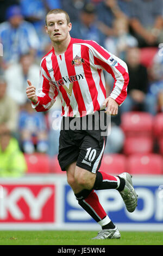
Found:
[[[127,86],[129,74],[127,64],[122,59],[106,51],[95,41],[91,41],[90,50],[92,51],[94,64],[97,68],[106,70],[114,78],[114,87],[110,97],[121,105],[127,97]]]

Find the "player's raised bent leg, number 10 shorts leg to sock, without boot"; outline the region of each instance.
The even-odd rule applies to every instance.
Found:
[[[106,174],[104,171],[98,171],[101,165],[105,143],[105,136],[99,136],[99,140],[90,135],[84,137],[80,145],[74,177],[77,183],[86,189],[118,189],[121,191],[125,186],[123,178]]]

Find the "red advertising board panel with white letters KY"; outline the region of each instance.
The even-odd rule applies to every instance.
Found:
[[[0,223],[54,222],[54,205],[53,183],[0,185]]]

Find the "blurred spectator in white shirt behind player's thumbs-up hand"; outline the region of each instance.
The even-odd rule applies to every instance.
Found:
[[[34,63],[34,58],[30,53],[20,56],[20,62],[12,64],[5,70],[5,80],[8,84],[8,95],[17,102],[18,105],[26,103],[27,79],[33,81],[35,87],[39,85],[40,67]]]

